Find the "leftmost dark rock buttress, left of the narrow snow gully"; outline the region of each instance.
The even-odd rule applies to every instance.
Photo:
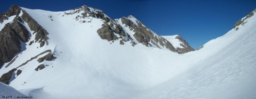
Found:
[[[24,35],[26,31],[23,31],[23,27],[18,23],[20,18],[17,16],[20,10],[20,7],[12,5],[8,11],[0,14],[0,23],[3,23],[8,17],[16,15],[13,23],[5,24],[4,28],[0,31],[0,67],[2,67],[3,63],[11,61],[14,55],[20,52],[21,43],[19,38],[26,38],[26,35]]]

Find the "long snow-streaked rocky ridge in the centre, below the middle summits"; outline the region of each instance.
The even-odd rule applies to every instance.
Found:
[[[97,33],[101,39],[106,39],[108,41],[122,40],[120,41],[120,45],[123,45],[121,42],[131,41],[135,43],[131,46],[134,46],[137,43],[141,43],[148,47],[158,47],[161,49],[167,49],[172,52],[180,53],[179,50],[174,48],[168,40],[150,30],[132,15],[129,15],[127,18],[122,17],[120,19],[112,20],[103,11],[85,5],[73,9],[69,12],[65,12],[66,15],[72,15],[76,13],[81,13],[81,15],[76,16],[76,20],[81,23],[91,22],[83,21],[81,19],[102,19],[104,24],[102,24],[102,27],[97,30]],[[128,32],[133,32],[134,34]],[[187,53],[189,50],[183,52]]]

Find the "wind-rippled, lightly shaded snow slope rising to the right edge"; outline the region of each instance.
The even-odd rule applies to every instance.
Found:
[[[141,99],[255,99],[256,16],[207,42],[189,71],[139,93]],[[193,59],[191,59],[193,60]],[[195,60],[195,59],[194,59]],[[140,95],[141,94],[141,95]]]

